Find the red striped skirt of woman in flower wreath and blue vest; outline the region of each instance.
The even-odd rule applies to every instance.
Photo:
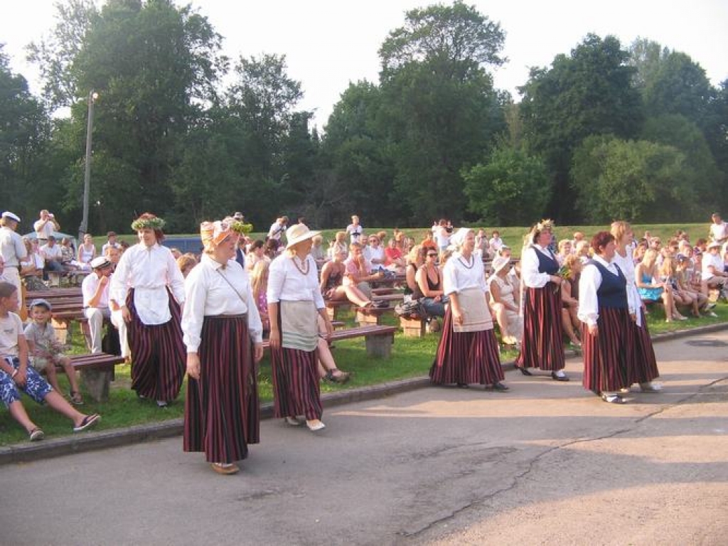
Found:
[[[515,360],[518,368],[558,371],[566,365],[561,325],[561,290],[549,282],[544,288],[523,290],[523,341]]]

